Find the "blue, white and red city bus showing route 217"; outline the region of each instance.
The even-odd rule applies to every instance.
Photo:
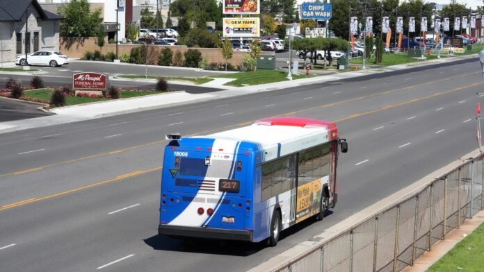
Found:
[[[207,136],[171,139],[161,176],[160,235],[259,242],[337,202],[346,152],[337,126],[298,117],[261,119]]]

